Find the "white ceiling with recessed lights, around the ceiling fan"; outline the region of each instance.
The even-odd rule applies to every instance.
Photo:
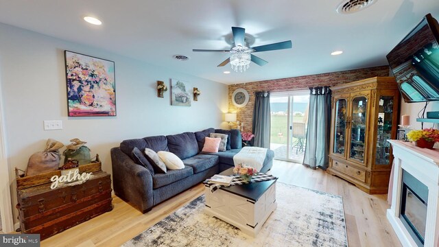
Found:
[[[355,14],[337,14],[341,0],[0,0],[0,22],[91,45],[200,78],[234,84],[387,64],[385,55],[438,0],[378,0]],[[96,16],[101,26],[82,21]],[[264,67],[226,75],[217,67],[230,49],[230,27],[244,27],[253,46],[292,40],[293,48],[259,52]],[[331,56],[342,49],[344,54]],[[175,54],[191,59],[174,60]],[[93,54],[91,54],[93,55]]]

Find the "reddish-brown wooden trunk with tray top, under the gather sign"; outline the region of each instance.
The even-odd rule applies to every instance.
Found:
[[[80,166],[93,172],[85,183],[50,189],[50,178],[60,170],[20,177],[17,172],[17,209],[21,233],[37,233],[46,239],[56,233],[112,210],[110,174],[102,172],[99,157]]]

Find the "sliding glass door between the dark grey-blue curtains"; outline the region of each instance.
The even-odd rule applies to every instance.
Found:
[[[270,94],[270,149],[274,158],[302,163],[305,154],[309,91]]]

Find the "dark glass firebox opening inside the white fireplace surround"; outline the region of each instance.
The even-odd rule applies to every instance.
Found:
[[[418,246],[424,246],[428,187],[403,170],[400,219]]]

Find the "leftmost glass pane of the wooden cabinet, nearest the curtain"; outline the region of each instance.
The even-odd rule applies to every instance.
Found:
[[[344,156],[344,143],[346,140],[346,110],[348,102],[346,99],[338,99],[335,102],[335,125],[333,153]]]

